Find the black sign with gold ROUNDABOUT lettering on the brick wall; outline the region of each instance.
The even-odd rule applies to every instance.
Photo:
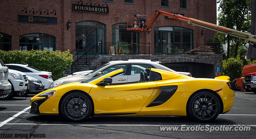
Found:
[[[73,11],[108,14],[108,7],[73,4]]]

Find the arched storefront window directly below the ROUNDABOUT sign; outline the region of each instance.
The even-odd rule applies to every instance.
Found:
[[[100,52],[105,53],[106,27],[104,24],[94,21],[83,21],[76,23],[76,52],[79,53],[84,47],[90,49],[99,45]]]

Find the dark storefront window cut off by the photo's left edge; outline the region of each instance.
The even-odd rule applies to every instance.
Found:
[[[11,40],[12,37],[10,35],[0,33],[0,50],[9,51],[11,50]]]

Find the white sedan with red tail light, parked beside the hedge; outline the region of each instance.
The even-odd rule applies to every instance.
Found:
[[[26,73],[29,76],[38,78],[39,80],[42,81],[42,84],[44,84],[44,89],[47,89],[50,86],[50,84],[53,82],[52,72],[41,71],[39,69],[30,67],[28,65],[22,65],[22,64],[6,64],[6,66],[9,69],[18,70]]]

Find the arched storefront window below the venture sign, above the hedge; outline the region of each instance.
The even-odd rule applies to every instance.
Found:
[[[55,37],[48,34],[32,33],[20,36],[20,50],[56,50]]]

